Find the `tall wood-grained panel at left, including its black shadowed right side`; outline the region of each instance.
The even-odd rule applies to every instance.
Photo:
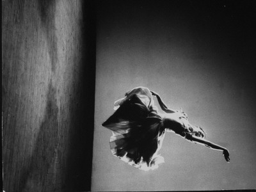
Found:
[[[4,190],[89,191],[93,4],[2,4]]]

